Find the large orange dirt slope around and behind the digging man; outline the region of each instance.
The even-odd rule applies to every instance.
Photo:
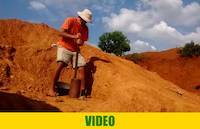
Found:
[[[0,35],[3,92],[45,101],[61,111],[200,111],[197,95],[88,45],[81,52],[88,61],[87,85],[92,86],[92,98],[47,97],[56,68],[56,48],[50,44],[58,39],[57,31],[41,24],[0,20]],[[61,80],[69,82],[71,75],[72,70],[65,69]]]

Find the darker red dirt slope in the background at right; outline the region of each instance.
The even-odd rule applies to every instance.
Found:
[[[143,53],[139,64],[188,91],[199,94],[200,57],[186,58],[177,54],[178,49]]]

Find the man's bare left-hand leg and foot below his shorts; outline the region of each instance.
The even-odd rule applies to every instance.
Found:
[[[60,73],[63,69],[63,67],[65,66],[65,63],[64,62],[58,62],[58,66],[57,66],[57,69],[56,69],[56,73],[53,77],[53,83],[52,83],[52,87],[49,91],[49,96],[56,96],[56,89],[55,89],[55,85],[60,77]]]

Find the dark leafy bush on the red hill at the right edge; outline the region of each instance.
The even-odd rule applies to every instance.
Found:
[[[182,57],[200,56],[200,45],[191,41],[190,43],[186,43],[185,46],[178,51],[178,53]]]

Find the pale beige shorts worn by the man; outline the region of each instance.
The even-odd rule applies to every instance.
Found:
[[[66,64],[73,62],[73,68],[76,63],[76,52],[71,52],[62,46],[57,48],[57,62],[64,62]],[[79,53],[78,54],[78,67],[85,66],[86,62],[84,57]]]

